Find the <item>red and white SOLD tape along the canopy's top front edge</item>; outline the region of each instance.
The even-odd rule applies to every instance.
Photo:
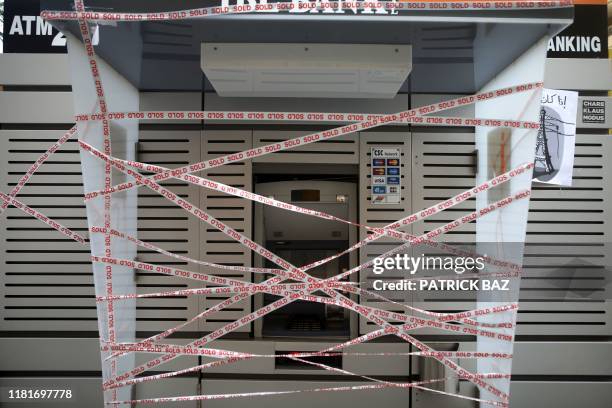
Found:
[[[573,2],[553,1],[321,1],[321,2],[277,2],[268,4],[241,4],[232,6],[203,7],[189,10],[115,13],[97,12],[81,9],[76,11],[45,10],[41,16],[46,20],[88,20],[88,21],[163,21],[187,20],[229,14],[248,14],[261,12],[304,13],[313,11],[339,11],[372,9],[395,11],[448,11],[448,10],[539,10],[572,7]]]

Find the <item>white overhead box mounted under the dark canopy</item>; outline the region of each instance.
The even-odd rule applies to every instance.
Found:
[[[412,47],[203,43],[201,62],[220,96],[393,98],[412,70]]]

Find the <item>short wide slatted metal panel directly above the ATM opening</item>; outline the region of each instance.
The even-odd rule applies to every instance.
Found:
[[[287,139],[308,135],[316,131],[255,131],[255,147],[272,143],[283,143]],[[357,164],[359,160],[357,134],[340,136],[331,140],[296,147],[284,152],[273,153],[253,159],[253,162],[265,163],[321,163],[321,164]]]

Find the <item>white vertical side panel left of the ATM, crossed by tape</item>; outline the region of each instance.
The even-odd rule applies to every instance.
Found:
[[[99,112],[96,87],[91,75],[89,59],[83,43],[70,34],[68,38],[68,56],[70,61],[72,95],[75,114]],[[98,69],[106,91],[106,102],[109,112],[139,111],[139,92],[125,78],[98,58]],[[138,121],[113,120],[110,122],[113,155],[121,159],[134,160],[136,142],[138,141]],[[78,137],[95,148],[103,151],[102,122],[83,122],[78,124]],[[83,172],[84,193],[102,190],[105,185],[105,164],[81,150],[81,168]],[[112,174],[113,184],[119,184],[126,177],[118,172]],[[110,205],[111,228],[137,235],[137,189],[122,191],[112,195]],[[100,196],[86,202],[87,222],[89,228],[104,226],[104,197]],[[89,234],[91,254],[105,256],[105,238],[103,234]],[[111,253],[114,258],[130,259],[136,257],[136,245],[117,237],[111,237]],[[110,281],[103,265],[93,264],[93,275],[96,296],[106,295],[108,284],[112,284],[113,294],[136,293],[135,271],[124,266],[113,266]],[[121,300],[113,302],[113,316],[110,316],[108,305],[98,302],[98,328],[100,342],[109,341],[110,318],[113,320],[116,342],[134,342],[136,336],[136,301]],[[113,377],[112,359],[107,360],[108,352],[101,353],[103,381]],[[116,358],[116,373],[122,374],[134,367],[134,353]],[[104,401],[113,399],[131,399],[130,387],[106,391]]]

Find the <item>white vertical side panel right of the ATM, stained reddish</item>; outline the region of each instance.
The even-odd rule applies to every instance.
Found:
[[[548,36],[545,35],[484,85],[479,92],[531,82],[543,82],[547,42]],[[482,63],[484,64],[485,61],[482,61]],[[478,102],[475,108],[476,117],[538,122],[540,94],[541,90],[538,89],[534,92],[524,92],[491,101]],[[476,128],[476,148],[479,152],[476,182],[482,183],[496,175],[516,168],[520,164],[533,163],[536,137],[537,130]],[[513,196],[520,191],[530,190],[531,179],[532,171],[529,170],[500,187],[478,195],[476,199],[477,209],[485,208],[492,202],[507,196]],[[519,200],[479,218],[476,223],[478,252],[495,259],[522,265],[528,213],[529,200]],[[499,270],[486,270],[486,272],[497,271]],[[507,292],[479,292],[477,308],[492,308],[518,302],[520,277],[511,279],[509,287],[510,289]],[[514,323],[513,328],[499,329],[499,332],[509,335],[515,334],[515,311],[494,313],[486,318],[480,318],[479,321],[487,323],[511,321]],[[483,336],[477,337],[478,351],[512,353],[513,346],[513,342],[503,342]],[[512,360],[480,359],[477,362],[477,367],[478,373],[510,374]],[[489,381],[499,390],[510,393],[509,379]],[[499,401],[498,397],[484,389],[480,390],[480,398]],[[491,404],[481,404],[481,406],[492,407]]]

